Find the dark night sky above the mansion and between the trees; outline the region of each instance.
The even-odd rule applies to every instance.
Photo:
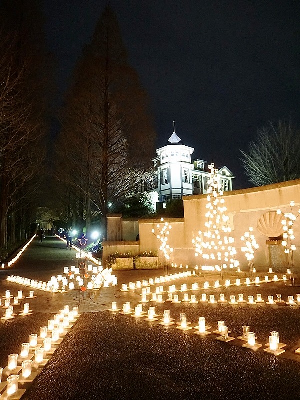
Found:
[[[44,0],[62,95],[106,1]],[[157,148],[176,133],[194,158],[250,186],[240,151],[269,120],[299,125],[300,1],[110,0],[129,62],[147,89]]]

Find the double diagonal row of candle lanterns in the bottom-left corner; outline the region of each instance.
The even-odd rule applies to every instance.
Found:
[[[78,307],[73,307],[70,311],[69,305],[65,305],[59,314],[54,315],[54,319],[48,320],[47,326],[41,326],[39,336],[35,333],[29,335],[29,341],[22,343],[19,354],[8,355],[6,368],[0,368],[0,384],[2,376],[6,376],[7,380],[6,392],[3,394],[5,398],[15,396],[16,393],[18,393],[18,398],[21,397],[25,389],[18,389],[19,382],[32,382],[35,379],[38,369],[46,365],[49,356],[57,349],[57,345],[61,344],[63,337],[79,316]],[[36,372],[32,372],[32,367],[36,369]],[[2,389],[6,387],[6,384]]]

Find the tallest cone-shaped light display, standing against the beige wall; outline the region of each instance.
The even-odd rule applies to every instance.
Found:
[[[235,259],[236,250],[233,247],[234,238],[230,236],[227,207],[224,205],[225,200],[221,198],[223,192],[217,176],[218,170],[214,168],[214,164],[209,165],[208,168],[210,178],[207,182],[207,212],[205,214],[207,230],[199,231],[193,244],[196,248],[195,256],[200,255],[205,263],[202,265],[202,270],[217,270],[223,278],[223,269],[237,267],[239,262]]]

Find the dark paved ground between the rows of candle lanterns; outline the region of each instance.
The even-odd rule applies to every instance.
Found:
[[[19,287],[6,280],[8,274],[48,280],[62,273],[64,266],[75,264],[75,251],[66,250],[59,239],[46,237],[42,245],[37,240],[7,271],[0,271],[0,294],[5,289],[17,292]],[[254,352],[241,347],[235,339],[230,343],[215,340],[211,334],[201,338],[194,329],[182,332],[174,326],[136,320],[130,315],[107,311],[111,301],[119,308],[125,301],[132,307],[141,299],[140,290],[121,292],[122,283],[162,275],[162,271],[116,272],[118,286],[103,289],[93,300],[83,300],[79,306],[81,317],[54,353],[48,365],[28,385],[23,400],[33,399],[286,399],[300,398],[300,362],[294,350],[300,347],[299,315],[296,306],[268,306],[259,304],[152,304],[159,315],[170,309],[171,317],[180,320],[185,312],[192,326],[204,316],[206,324],[217,328],[218,320],[225,320],[230,336],[241,334],[241,326],[250,325],[257,342],[265,344],[271,330],[280,334],[280,342],[287,344],[286,353],[275,357],[262,350]],[[178,287],[204,278],[189,277],[172,281]],[[213,277],[205,280],[213,281]],[[165,284],[169,286],[168,283]],[[29,288],[27,288],[29,290]],[[105,291],[104,291],[105,290]],[[197,297],[203,290],[194,292]],[[281,293],[283,299],[296,295],[300,287],[288,283],[268,283],[258,287],[229,287],[206,290],[207,294],[262,293],[262,297]],[[65,303],[78,305],[70,294],[54,294],[48,301],[47,293],[38,291],[30,300],[33,315],[0,322],[0,365],[5,366],[7,355],[19,352],[28,334],[38,332],[52,313]],[[193,294],[192,292],[190,294]],[[102,311],[102,312],[96,312]]]

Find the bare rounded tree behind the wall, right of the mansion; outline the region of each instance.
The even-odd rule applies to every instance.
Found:
[[[255,186],[300,178],[300,130],[291,122],[271,122],[258,129],[248,152],[242,151],[245,173]]]

